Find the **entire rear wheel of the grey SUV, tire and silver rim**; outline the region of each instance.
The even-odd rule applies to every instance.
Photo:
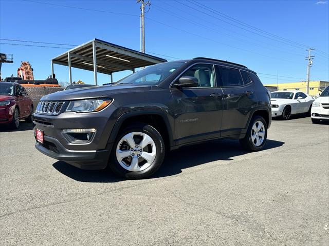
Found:
[[[240,139],[242,147],[249,151],[263,149],[267,139],[267,124],[262,116],[255,115],[251,118],[246,136]]]

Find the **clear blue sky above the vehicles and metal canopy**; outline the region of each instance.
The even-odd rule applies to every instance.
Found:
[[[310,78],[329,80],[328,1],[197,3],[151,0],[151,8],[145,15],[146,51],[175,57],[161,56],[167,59],[198,56],[227,59],[246,65],[259,73],[264,84],[270,84],[277,83],[277,73],[279,83],[305,80],[305,49],[312,47],[316,50]],[[99,38],[139,50],[139,7],[136,0],[0,0],[0,52],[14,55],[13,64],[3,65],[2,76],[15,76],[21,61],[29,61],[34,77],[45,79],[51,73],[51,58],[64,53],[67,47],[71,48],[3,39],[80,45]],[[225,14],[224,17],[218,11]],[[235,19],[234,22],[230,17]],[[252,29],[236,21],[250,25]],[[281,41],[278,41],[273,35],[285,40],[280,38]],[[55,65],[54,71],[59,81],[68,81],[67,67]],[[116,73],[114,80],[125,74],[127,72]],[[79,69],[72,69],[72,79],[88,84],[94,81],[92,72]],[[98,74],[98,80],[103,84],[108,83],[110,78]]]

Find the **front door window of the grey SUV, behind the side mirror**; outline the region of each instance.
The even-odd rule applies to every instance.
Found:
[[[198,64],[189,68],[185,73],[181,75],[195,77],[198,81],[198,87],[214,87],[215,78],[213,66],[209,64]]]

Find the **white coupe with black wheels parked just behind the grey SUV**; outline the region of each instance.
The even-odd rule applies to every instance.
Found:
[[[310,113],[313,96],[301,91],[271,92],[272,117],[281,117],[284,120],[292,114]]]

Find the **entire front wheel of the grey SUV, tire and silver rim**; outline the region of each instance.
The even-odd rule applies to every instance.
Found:
[[[116,175],[139,179],[155,173],[164,157],[160,133],[150,125],[134,124],[119,133],[108,166]]]

